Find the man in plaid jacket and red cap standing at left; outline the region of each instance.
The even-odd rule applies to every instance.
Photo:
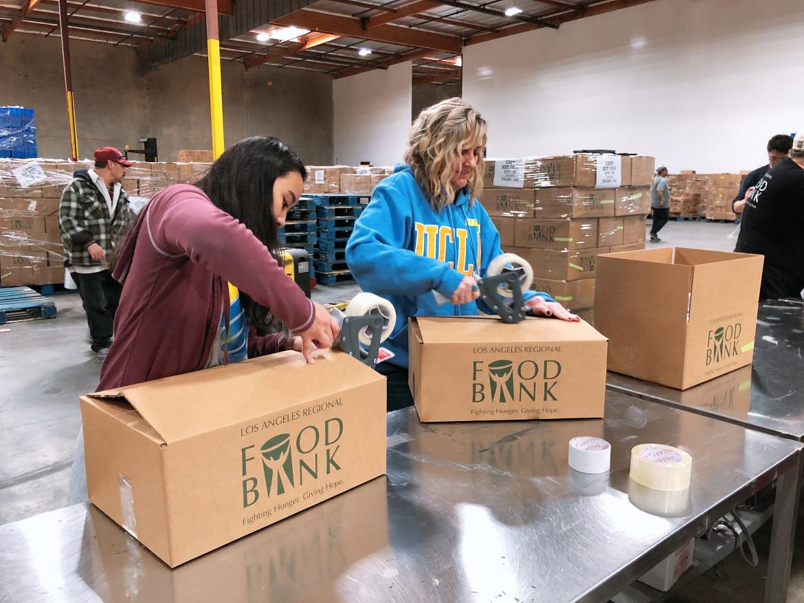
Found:
[[[59,203],[65,264],[84,302],[92,351],[100,362],[112,345],[114,314],[123,289],[112,278],[109,261],[134,218],[122,187],[130,165],[112,146],[96,150],[95,168],[77,170]]]

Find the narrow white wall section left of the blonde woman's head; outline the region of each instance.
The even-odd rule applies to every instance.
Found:
[[[402,161],[411,124],[412,63],[334,81],[336,163]]]

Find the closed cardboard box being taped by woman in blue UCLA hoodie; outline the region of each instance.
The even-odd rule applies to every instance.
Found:
[[[585,322],[420,316],[408,336],[423,422],[603,416],[606,340]]]

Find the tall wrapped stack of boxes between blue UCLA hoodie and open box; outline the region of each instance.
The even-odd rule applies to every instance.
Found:
[[[512,178],[507,178],[516,171],[512,162],[486,162],[481,199],[503,250],[530,262],[533,289],[590,320],[597,256],[645,247],[654,158],[618,159],[619,186],[605,188],[596,187],[596,155],[514,161],[519,175]]]

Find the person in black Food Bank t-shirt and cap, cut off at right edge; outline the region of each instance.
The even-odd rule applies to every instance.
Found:
[[[790,156],[762,176],[746,199],[737,245],[765,256],[760,300],[801,297],[804,289],[804,129]]]

